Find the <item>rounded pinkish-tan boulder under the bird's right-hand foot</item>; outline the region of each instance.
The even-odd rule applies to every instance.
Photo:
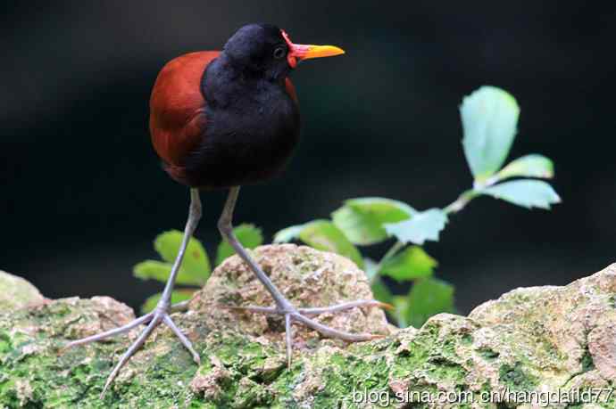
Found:
[[[372,299],[366,274],[352,261],[337,254],[282,244],[262,246],[253,252],[253,256],[296,307],[327,307],[355,299]],[[283,347],[285,333],[281,317],[225,306],[274,306],[270,293],[237,257],[228,258],[214,271],[204,289],[191,302],[190,309],[202,313],[204,323],[211,329],[233,329]],[[381,335],[388,335],[391,331],[385,313],[374,307],[353,308],[317,318],[320,323],[342,331]],[[320,339],[317,331],[301,324],[294,324],[294,329],[296,349],[317,348],[322,342],[344,345],[341,341]]]

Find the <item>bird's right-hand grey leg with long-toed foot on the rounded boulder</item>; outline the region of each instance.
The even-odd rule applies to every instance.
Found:
[[[376,300],[358,300],[344,304],[339,304],[332,307],[318,307],[318,308],[304,308],[298,309],[294,307],[291,302],[285,298],[278,288],[271,282],[270,277],[265,274],[261,267],[254,262],[254,259],[250,257],[246,249],[237,240],[233,233],[233,210],[235,209],[237,202],[237,194],[239,193],[239,186],[232,187],[229,190],[229,197],[225,203],[225,207],[222,210],[221,218],[218,222],[218,228],[221,231],[222,236],[229,241],[229,244],[235,249],[237,255],[244,260],[244,262],[254,272],[257,279],[265,286],[270,292],[272,299],[276,304],[276,307],[231,307],[251,310],[253,312],[260,312],[265,314],[283,315],[285,318],[285,331],[287,342],[287,364],[291,365],[291,352],[292,352],[292,339],[291,339],[291,323],[293,321],[304,323],[304,325],[319,331],[321,334],[329,338],[343,339],[349,342],[358,342],[370,339],[380,338],[380,335],[373,335],[370,333],[351,333],[346,331],[339,331],[331,328],[327,325],[323,325],[317,321],[312,320],[307,315],[319,315],[327,312],[338,312],[348,308],[360,307],[360,306],[379,306],[384,307],[383,303]]]

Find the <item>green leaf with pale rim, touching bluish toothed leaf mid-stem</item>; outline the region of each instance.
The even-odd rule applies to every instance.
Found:
[[[384,224],[406,220],[415,212],[398,200],[358,198],[345,200],[345,205],[331,216],[349,241],[365,246],[387,240]]]

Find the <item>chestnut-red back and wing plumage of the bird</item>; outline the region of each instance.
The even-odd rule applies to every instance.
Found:
[[[167,62],[150,96],[150,135],[154,150],[167,170],[181,181],[183,164],[205,135],[207,118],[201,91],[204,70],[220,52],[187,53]],[[295,87],[286,78],[287,93],[297,102]]]

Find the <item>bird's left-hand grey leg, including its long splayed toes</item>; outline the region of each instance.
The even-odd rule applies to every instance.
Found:
[[[190,352],[190,354],[193,356],[193,359],[195,360],[196,364],[201,363],[199,354],[196,353],[196,350],[195,348],[193,348],[192,343],[179,330],[176,324],[173,323],[173,321],[171,320],[171,316],[170,316],[172,312],[183,310],[183,309],[186,309],[187,307],[187,302],[182,302],[174,306],[171,306],[171,292],[173,291],[175,279],[178,276],[179,266],[181,266],[182,264],[182,258],[184,258],[184,253],[186,252],[188,241],[190,240],[190,237],[192,236],[192,234],[195,232],[196,225],[199,223],[200,219],[201,219],[201,200],[199,199],[199,191],[197,189],[191,189],[190,190],[190,208],[188,210],[187,224],[184,229],[184,237],[182,238],[182,242],[179,247],[178,256],[175,258],[173,266],[171,267],[171,274],[169,276],[169,279],[167,280],[167,284],[165,285],[165,288],[162,291],[162,297],[160,301],[158,302],[158,305],[154,308],[154,311],[137,318],[131,323],[123,325],[119,328],[115,328],[111,331],[105,331],[100,334],[96,334],[96,335],[93,335],[93,336],[90,336],[84,339],[74,340],[63,348],[63,349],[67,349],[67,348],[75,347],[78,345],[83,345],[83,344],[87,344],[90,342],[94,342],[97,340],[107,339],[114,335],[128,332],[142,323],[147,323],[146,329],[142,331],[141,334],[139,334],[139,337],[137,338],[137,340],[133,342],[133,344],[129,347],[129,349],[127,349],[124,355],[121,356],[118,364],[116,364],[115,367],[113,368],[113,371],[111,372],[106,382],[104,383],[104,388],[103,388],[103,392],[101,393],[101,397],[104,397],[105,392],[107,391],[109,386],[112,384],[112,381],[115,379],[115,377],[118,376],[118,373],[120,373],[121,368],[127,362],[129,362],[130,357],[135,355],[137,350],[143,346],[143,344],[146,342],[146,339],[152,334],[154,329],[161,323],[164,323],[169,328],[171,328],[171,331],[173,331],[173,333],[179,338],[179,341],[182,343],[182,345],[184,345],[184,347],[186,347],[188,351]]]

